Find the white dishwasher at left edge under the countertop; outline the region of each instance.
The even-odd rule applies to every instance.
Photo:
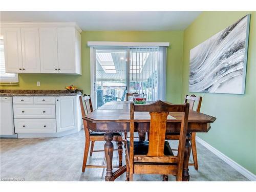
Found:
[[[12,97],[0,97],[0,137],[17,137],[14,133]]]

